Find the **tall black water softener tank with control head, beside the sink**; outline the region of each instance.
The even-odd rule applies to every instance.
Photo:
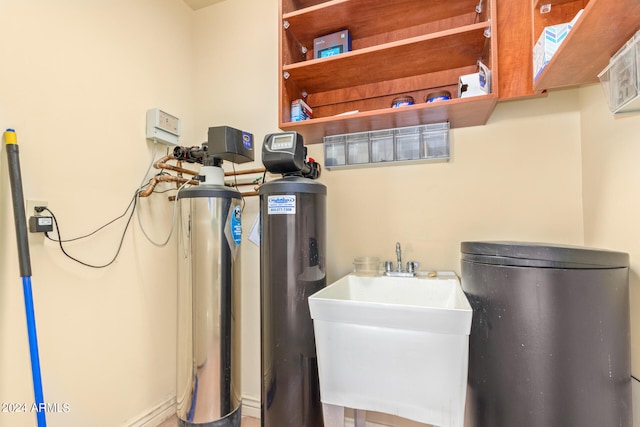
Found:
[[[268,135],[263,145],[267,170],[284,174],[260,187],[263,427],[323,426],[307,298],[326,286],[327,190],[310,178],[319,171],[303,161],[301,138]]]

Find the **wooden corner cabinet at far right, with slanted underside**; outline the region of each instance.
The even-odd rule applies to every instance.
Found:
[[[638,0],[496,0],[500,99],[598,81],[609,59],[640,29]],[[543,5],[550,11],[541,13]],[[544,27],[571,21],[567,38],[533,81],[533,46]]]

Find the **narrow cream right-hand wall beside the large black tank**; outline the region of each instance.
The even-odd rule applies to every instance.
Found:
[[[631,354],[640,369],[640,115],[613,116],[599,85],[580,90],[585,244],[631,257]]]

